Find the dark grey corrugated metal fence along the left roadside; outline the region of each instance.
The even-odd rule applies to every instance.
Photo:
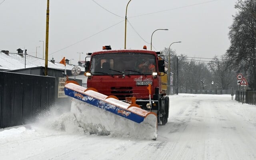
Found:
[[[0,128],[26,124],[55,101],[55,77],[0,72]]]

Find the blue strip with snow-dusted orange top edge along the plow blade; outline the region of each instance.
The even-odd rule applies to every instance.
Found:
[[[146,118],[148,115],[156,116],[156,113],[143,110],[137,104],[128,104],[122,102],[115,96],[106,96],[98,93],[94,88],[84,88],[73,83],[68,83],[65,85],[64,92],[67,96],[117,114],[118,116],[122,116],[136,123],[143,122],[144,118]],[[157,120],[156,117],[153,119]],[[156,123],[157,128],[157,121],[153,123]]]

